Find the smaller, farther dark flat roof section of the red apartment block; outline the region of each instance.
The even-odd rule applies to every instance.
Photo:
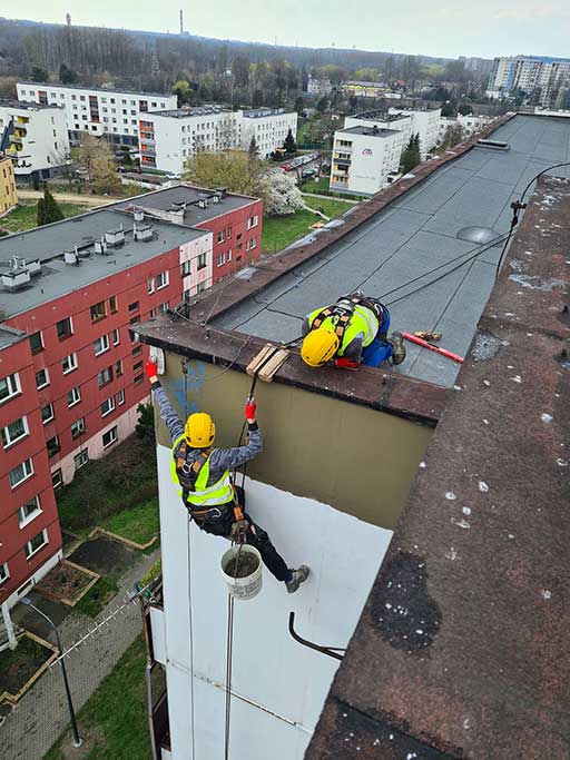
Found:
[[[173,204],[196,204],[198,198],[204,195],[209,196],[213,193],[214,190],[193,187],[191,185],[177,185],[176,187],[169,187],[166,190],[156,190],[154,193],[146,193],[138,198],[130,198],[129,200],[114,205],[114,208],[129,209],[136,206],[137,208],[148,209],[149,213],[153,209],[168,211],[171,209]],[[206,208],[199,208],[197,205],[187,206],[184,215],[184,224],[190,227],[199,225],[208,219],[220,216],[222,214],[228,214],[229,211],[235,211],[244,206],[249,206],[255,201],[256,198],[234,195],[232,193],[226,194],[217,204],[209,198]]]

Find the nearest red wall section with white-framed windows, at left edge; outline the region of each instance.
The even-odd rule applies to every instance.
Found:
[[[16,601],[14,592],[30,578],[39,580],[47,572],[46,563],[61,550],[61,532],[42,435],[33,362],[26,338],[0,351],[0,378],[12,374],[18,375],[20,393],[0,404],[0,427],[4,428],[24,416],[29,432],[26,437],[6,447],[0,441],[0,565],[7,566],[9,573],[9,578],[0,582],[0,604],[8,601],[9,605]],[[12,487],[9,472],[26,460],[31,460],[33,473]],[[21,522],[19,509],[35,497],[39,500],[39,511]],[[27,542],[43,530],[47,531],[48,543],[28,559],[24,551]]]

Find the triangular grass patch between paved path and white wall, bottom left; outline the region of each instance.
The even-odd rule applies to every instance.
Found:
[[[145,664],[145,644],[138,636],[79,711],[79,732],[97,737],[88,760],[150,758]],[[62,741],[43,760],[63,760]]]

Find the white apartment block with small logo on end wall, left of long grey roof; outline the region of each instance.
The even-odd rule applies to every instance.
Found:
[[[371,196],[389,185],[402,155],[402,131],[357,125],[334,134],[330,188]]]

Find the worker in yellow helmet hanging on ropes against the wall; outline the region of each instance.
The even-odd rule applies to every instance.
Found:
[[[287,567],[263,527],[242,511],[232,482],[230,471],[255,458],[263,450],[262,433],[255,420],[255,401],[245,406],[249,432],[247,445],[212,448],[216,426],[209,414],[190,414],[184,425],[160,385],[157,365],[148,359],[145,369],[153,399],[158,402],[160,417],[173,441],[173,480],[181,486],[183,503],[191,520],[206,533],[255,546],[267,570],[285,583],[287,591],[291,594],[297,591],[308,578],[308,567]]]

